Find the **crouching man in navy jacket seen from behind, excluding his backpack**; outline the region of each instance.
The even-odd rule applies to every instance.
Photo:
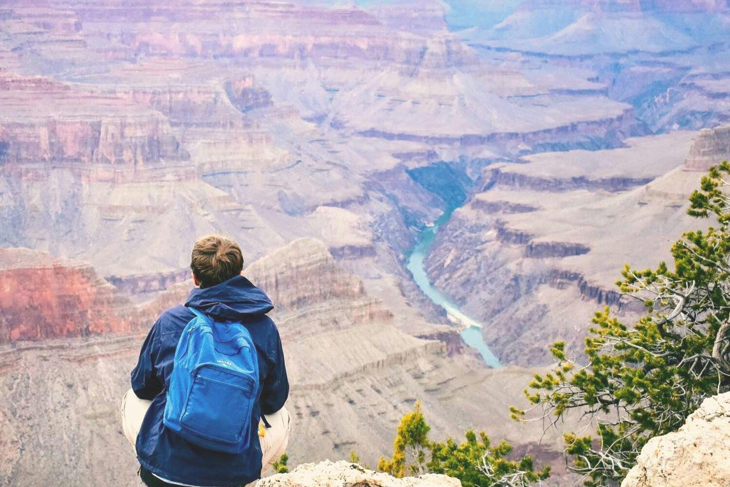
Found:
[[[236,242],[211,236],[196,242],[191,258],[194,288],[185,305],[166,310],[150,329],[131,390],[122,400],[123,430],[135,445],[139,475],[149,487],[234,487],[261,477],[288,443],[289,383],[279,332],[266,316],[273,304],[241,275],[243,256]],[[221,453],[188,442],[164,425],[175,350],[195,308],[216,322],[242,323],[258,358],[258,396],[251,412],[250,437],[242,453]],[[231,410],[237,404],[228,404]],[[259,422],[261,419],[261,423]]]

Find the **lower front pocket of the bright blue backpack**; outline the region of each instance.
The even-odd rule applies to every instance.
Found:
[[[220,450],[241,442],[243,429],[251,423],[255,391],[245,375],[210,364],[193,371],[193,383],[180,424]]]

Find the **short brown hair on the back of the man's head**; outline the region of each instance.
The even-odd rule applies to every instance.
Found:
[[[243,270],[241,248],[218,235],[203,237],[193,245],[190,268],[201,288],[210,288],[237,276]]]

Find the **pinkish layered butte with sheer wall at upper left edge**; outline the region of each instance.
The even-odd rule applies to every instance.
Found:
[[[5,168],[35,163],[143,169],[189,158],[165,118],[118,96],[12,74],[0,74],[0,87],[7,107],[0,117]]]

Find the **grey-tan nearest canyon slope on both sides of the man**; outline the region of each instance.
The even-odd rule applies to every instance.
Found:
[[[523,400],[523,383],[534,370],[489,370],[474,353],[447,356],[445,343],[401,331],[385,304],[369,296],[322,242],[297,239],[247,266],[245,275],[277,304],[272,318],[292,384],[291,464],[342,459],[353,449],[374,464],[391,448],[401,415],[416,399],[434,437],[456,437],[474,425],[494,438],[510,438],[516,448],[531,448],[529,443],[542,437],[542,429],[507,419],[508,406]],[[158,312],[184,302],[190,287],[189,282],[172,286],[140,304],[137,315],[149,326]],[[30,294],[51,291],[35,278],[26,288]],[[447,329],[418,326],[417,315],[409,318],[424,331]],[[64,323],[64,316],[55,320],[49,329]],[[7,460],[0,485],[137,485],[136,461],[120,434],[118,404],[144,338],[140,331],[61,334],[55,340],[0,345],[0,384],[8,391],[0,405],[0,457]],[[547,438],[536,455],[556,465],[559,479],[560,439],[558,434]],[[63,454],[40,453],[47,449]]]

